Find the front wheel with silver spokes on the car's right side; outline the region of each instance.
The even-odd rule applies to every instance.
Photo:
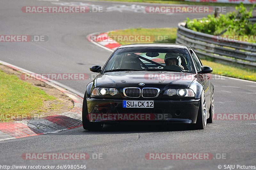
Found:
[[[204,129],[206,126],[206,101],[204,96],[204,90],[201,95],[200,105],[198,109],[198,114],[196,118],[196,129]]]

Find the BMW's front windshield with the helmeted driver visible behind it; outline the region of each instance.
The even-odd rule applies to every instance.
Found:
[[[195,73],[186,49],[168,47],[120,48],[108,60],[103,72],[145,70]]]

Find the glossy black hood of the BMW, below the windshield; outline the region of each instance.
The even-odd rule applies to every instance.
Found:
[[[99,74],[95,81],[97,87],[155,87],[167,88],[188,88],[195,79],[196,74],[179,72],[149,72],[149,71],[122,71],[107,72]],[[139,83],[145,83],[140,86]]]

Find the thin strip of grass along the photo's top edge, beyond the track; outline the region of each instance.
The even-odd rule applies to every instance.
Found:
[[[173,1],[173,0],[105,0],[120,2],[142,2],[142,3],[158,3],[158,4],[188,4],[188,5],[212,5],[212,6],[236,6],[231,3],[210,3],[210,2],[189,2],[189,1]],[[245,7],[251,7],[251,4],[244,4]]]

